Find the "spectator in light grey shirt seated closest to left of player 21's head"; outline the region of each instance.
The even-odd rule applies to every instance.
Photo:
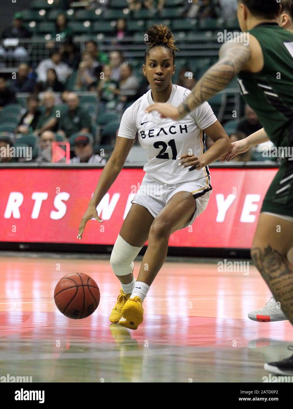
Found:
[[[139,89],[139,80],[133,74],[132,65],[123,63],[120,76],[119,90],[116,91],[120,95],[120,101],[124,103],[134,101]]]

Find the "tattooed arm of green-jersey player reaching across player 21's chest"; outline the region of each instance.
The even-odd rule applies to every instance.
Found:
[[[250,58],[250,49],[239,43],[228,43],[223,47],[221,59],[197,82],[188,97],[179,105],[179,117],[184,118],[204,101],[208,101],[235,78]]]

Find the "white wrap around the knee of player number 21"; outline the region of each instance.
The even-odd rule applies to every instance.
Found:
[[[116,238],[110,264],[116,276],[126,276],[134,269],[134,258],[139,254],[142,247],[133,247],[128,244],[120,234]]]

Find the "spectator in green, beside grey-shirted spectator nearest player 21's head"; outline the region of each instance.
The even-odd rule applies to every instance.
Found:
[[[119,83],[111,79],[112,68],[110,65],[103,66],[103,73],[104,75],[97,87],[100,105],[107,109],[114,109],[117,99],[115,91],[119,89]]]

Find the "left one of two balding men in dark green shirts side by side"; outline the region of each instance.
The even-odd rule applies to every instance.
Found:
[[[54,106],[55,96],[53,92],[45,92],[43,94],[42,105],[45,108],[45,111],[42,112],[38,118],[36,125],[36,130],[34,131],[35,135],[40,135],[45,130],[51,130],[55,132],[58,128],[58,112]]]

